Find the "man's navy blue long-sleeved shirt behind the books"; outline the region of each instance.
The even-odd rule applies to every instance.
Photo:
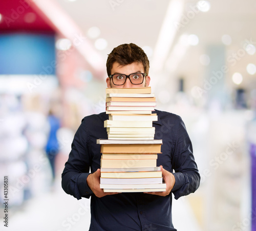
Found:
[[[182,119],[172,113],[155,110],[158,121],[155,139],[162,139],[157,166],[173,173],[175,185],[167,196],[144,193],[120,193],[96,197],[87,185],[87,176],[100,168],[100,145],[97,139],[108,139],[103,123],[105,112],[82,119],[69,159],[62,173],[63,190],[77,199],[91,196],[91,226],[97,231],[176,230],[172,222],[172,193],[178,199],[195,192],[200,175],[193,156],[191,141]]]

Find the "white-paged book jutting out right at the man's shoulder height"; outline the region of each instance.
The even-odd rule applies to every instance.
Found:
[[[150,114],[150,115],[109,115],[109,120],[118,120],[118,121],[157,121],[157,114]]]

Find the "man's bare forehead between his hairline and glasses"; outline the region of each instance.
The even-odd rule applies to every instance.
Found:
[[[143,72],[144,73],[144,66],[140,63],[131,63],[127,65],[120,65],[119,63],[115,62],[111,69],[111,74],[120,73],[120,74],[131,74],[135,72]]]

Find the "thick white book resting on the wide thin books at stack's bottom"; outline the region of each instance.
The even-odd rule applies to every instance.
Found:
[[[137,185],[137,184],[162,184],[163,177],[152,178],[100,178],[100,184]]]

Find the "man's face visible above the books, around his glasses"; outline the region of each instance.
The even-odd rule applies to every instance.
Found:
[[[132,74],[132,73],[144,73],[144,67],[142,63],[131,63],[125,66],[121,66],[119,63],[115,62],[111,69],[111,74]],[[150,85],[150,76],[145,76],[143,83],[134,85],[129,79],[126,79],[124,85],[114,85],[110,78],[106,79],[106,85],[108,88],[131,88],[131,87],[148,87]]]

